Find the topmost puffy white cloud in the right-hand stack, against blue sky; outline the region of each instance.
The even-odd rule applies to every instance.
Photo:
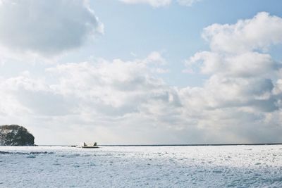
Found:
[[[242,53],[264,50],[282,42],[282,18],[269,13],[257,13],[254,18],[239,20],[233,25],[213,24],[202,34],[212,51]]]

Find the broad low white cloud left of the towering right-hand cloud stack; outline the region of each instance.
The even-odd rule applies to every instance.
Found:
[[[131,141],[135,144],[145,134],[151,134],[148,143],[157,142],[153,135],[160,131],[168,134],[172,130],[171,123],[178,121],[176,111],[181,106],[177,89],[168,87],[154,71],[157,67],[163,68],[164,61],[161,54],[152,52],[146,58],[133,61],[99,59],[95,62],[50,65],[40,79],[27,73],[3,78],[0,86],[6,89],[0,96],[8,96],[14,105],[6,108],[7,104],[0,104],[0,120],[5,119],[6,122],[13,117],[9,112],[22,106],[20,116],[33,119],[32,124],[35,119],[44,122],[40,127],[32,126],[35,131],[44,126],[59,129],[55,125],[68,130],[84,127],[82,131],[91,127],[104,132],[106,137],[106,134],[114,134],[112,131],[115,130],[116,135],[112,135],[115,143],[122,143],[125,135],[121,130],[128,130],[135,134],[135,139]],[[13,118],[14,121],[18,119]],[[149,131],[150,128],[155,130],[154,134]],[[66,130],[58,131],[62,134]],[[91,134],[102,135],[101,132]],[[88,136],[90,134],[85,133],[85,137]],[[44,142],[42,133],[40,137]]]

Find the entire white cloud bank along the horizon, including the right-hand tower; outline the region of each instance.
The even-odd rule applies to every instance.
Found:
[[[185,61],[187,72],[208,76],[202,87],[166,84],[157,51],[0,77],[0,121],[30,125],[42,144],[281,142],[281,62],[267,51],[281,44],[281,25],[263,12],[204,28],[209,51]]]

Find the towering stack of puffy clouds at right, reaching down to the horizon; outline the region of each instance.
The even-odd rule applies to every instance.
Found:
[[[198,126],[240,142],[281,141],[276,132],[282,125],[274,118],[281,114],[281,62],[266,54],[271,45],[282,43],[281,28],[282,18],[264,12],[233,25],[204,28],[210,51],[185,61],[185,72],[200,70],[209,78],[203,87],[180,90],[185,106],[202,111]]]

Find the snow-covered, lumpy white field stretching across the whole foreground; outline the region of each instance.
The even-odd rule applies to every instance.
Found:
[[[282,145],[0,146],[0,187],[282,187]]]

